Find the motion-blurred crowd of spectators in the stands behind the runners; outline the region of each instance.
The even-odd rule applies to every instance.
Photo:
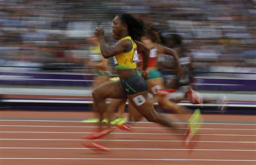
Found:
[[[95,27],[128,12],[183,36],[195,71],[255,73],[256,0],[0,0],[0,71],[83,71]]]

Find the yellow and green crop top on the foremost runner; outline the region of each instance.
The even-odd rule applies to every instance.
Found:
[[[136,61],[138,60],[137,45],[130,36],[121,38],[119,41],[121,40],[130,40],[132,42],[132,49],[129,52],[122,52],[113,57],[116,65],[115,69],[135,69]]]

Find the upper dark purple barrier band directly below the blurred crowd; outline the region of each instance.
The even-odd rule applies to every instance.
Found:
[[[204,74],[204,72],[194,72]],[[207,73],[221,75],[222,73]],[[225,73],[226,75],[228,73]],[[240,74],[241,77],[256,74]],[[90,87],[94,74],[86,73],[51,73],[51,72],[0,72],[0,83],[9,85],[66,85]],[[112,75],[115,77],[117,75]],[[166,80],[174,78],[172,73],[165,76]],[[196,76],[197,83],[194,83],[199,90],[218,91],[256,91],[256,79],[221,76]]]

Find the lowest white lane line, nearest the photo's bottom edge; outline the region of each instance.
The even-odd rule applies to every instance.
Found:
[[[8,157],[8,158],[0,158],[0,159],[36,159],[36,160],[162,160],[162,161],[229,161],[229,162],[256,162],[256,160],[248,160],[248,159],[136,159],[136,158],[16,158],[16,157]]]

